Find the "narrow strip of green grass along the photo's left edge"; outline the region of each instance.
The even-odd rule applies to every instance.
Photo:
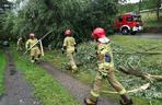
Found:
[[[0,50],[0,95],[4,93],[4,69],[7,66],[7,60],[4,52]]]

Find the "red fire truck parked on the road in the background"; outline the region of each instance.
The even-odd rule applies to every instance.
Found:
[[[124,35],[135,35],[143,30],[141,15],[137,13],[125,13],[114,23],[115,31],[119,31]]]

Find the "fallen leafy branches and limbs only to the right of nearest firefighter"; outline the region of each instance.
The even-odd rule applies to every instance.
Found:
[[[138,50],[127,46],[119,46],[113,43],[115,67],[119,70],[119,80],[128,89],[132,90],[143,83],[151,83],[150,88],[138,93],[137,96],[147,98],[162,98],[162,65],[158,61],[150,62],[148,57],[161,55],[161,51],[154,51],[159,46],[139,46]],[[123,72],[123,73],[121,73]]]

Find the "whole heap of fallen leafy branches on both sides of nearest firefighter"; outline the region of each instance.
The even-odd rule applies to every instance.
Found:
[[[162,98],[162,65],[154,61],[151,63],[146,59],[154,55],[161,55],[161,51],[152,51],[158,46],[144,48],[139,47],[139,50],[135,50],[127,46],[120,46],[115,43],[112,44],[114,61],[116,67],[116,75],[118,80],[127,90],[134,90],[144,83],[150,83],[149,89],[142,92],[131,93],[137,96],[146,96],[147,98]],[[84,70],[95,72],[96,55],[95,44],[89,42],[82,44],[78,48],[79,52],[76,55],[77,63],[84,67]]]

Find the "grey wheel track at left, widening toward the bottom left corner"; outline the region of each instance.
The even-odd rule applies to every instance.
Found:
[[[23,72],[15,70],[13,55],[7,51],[7,56],[9,61],[4,79],[7,93],[0,100],[0,105],[40,105],[34,97],[32,86],[23,79]]]

